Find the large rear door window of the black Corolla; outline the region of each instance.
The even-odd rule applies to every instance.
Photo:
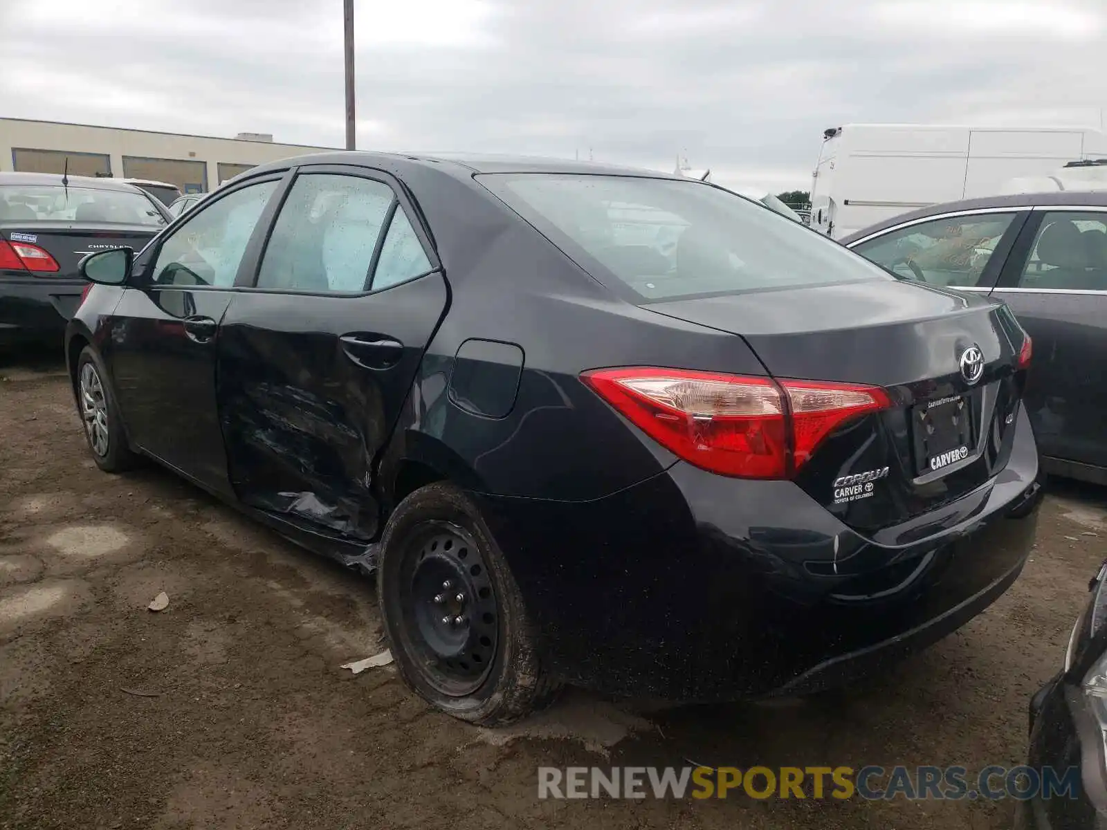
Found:
[[[261,260],[258,288],[364,291],[392,188],[356,176],[297,176]]]

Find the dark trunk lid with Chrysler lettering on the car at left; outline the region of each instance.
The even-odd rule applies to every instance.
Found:
[[[0,238],[38,246],[58,261],[59,270],[35,272],[50,280],[79,280],[77,263],[87,255],[130,247],[137,253],[159,229],[149,225],[75,224],[71,221],[4,221]]]

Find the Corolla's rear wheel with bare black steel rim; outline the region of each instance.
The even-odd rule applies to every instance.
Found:
[[[554,699],[559,684],[539,664],[515,578],[459,488],[432,484],[400,502],[376,579],[396,666],[428,703],[499,726]]]

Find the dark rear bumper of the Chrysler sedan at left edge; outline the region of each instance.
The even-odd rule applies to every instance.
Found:
[[[0,343],[61,342],[84,286],[81,280],[0,276]]]

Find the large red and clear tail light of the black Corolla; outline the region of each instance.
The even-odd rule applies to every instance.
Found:
[[[876,386],[680,369],[601,369],[581,380],[673,454],[741,478],[787,478],[832,429],[890,406]]]

